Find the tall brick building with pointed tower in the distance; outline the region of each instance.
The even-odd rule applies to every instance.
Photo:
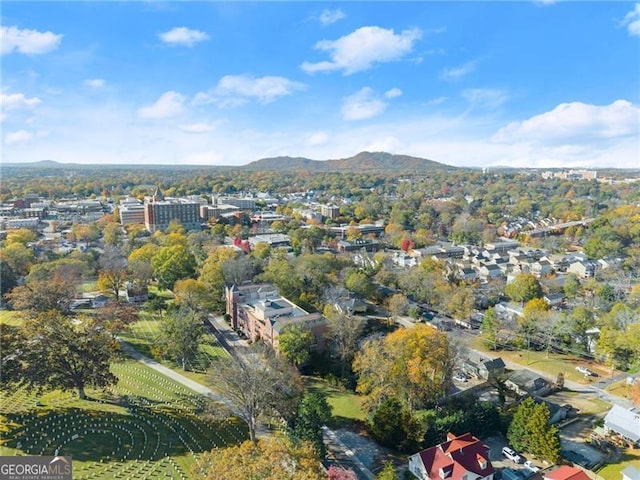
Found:
[[[172,220],[182,224],[187,230],[200,228],[200,203],[185,198],[165,198],[160,187],[144,204],[144,225],[151,232],[164,231]]]

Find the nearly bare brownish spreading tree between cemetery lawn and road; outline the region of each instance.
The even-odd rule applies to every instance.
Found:
[[[254,444],[258,426],[268,417],[290,419],[302,394],[299,373],[268,347],[256,348],[251,361],[221,359],[209,376],[210,385],[249,427]]]

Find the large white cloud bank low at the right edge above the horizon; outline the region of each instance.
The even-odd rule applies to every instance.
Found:
[[[627,100],[610,105],[561,103],[549,112],[512,122],[499,129],[496,142],[525,141],[538,144],[584,144],[635,136],[640,132],[640,106]]]

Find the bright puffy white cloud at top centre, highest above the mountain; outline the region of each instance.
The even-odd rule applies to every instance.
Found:
[[[361,27],[337,40],[322,40],[316,50],[328,52],[330,61],[304,62],[301,68],[307,73],[342,70],[345,75],[368,70],[376,63],[399,60],[413,49],[422,38],[417,28],[395,34],[391,29]]]

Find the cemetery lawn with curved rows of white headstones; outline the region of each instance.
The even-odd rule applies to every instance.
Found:
[[[0,455],[70,455],[75,479],[182,479],[200,453],[247,438],[242,422],[209,418],[204,397],[155,370],[129,361],[112,371],[117,386],[87,391],[91,400],[0,395]]]

